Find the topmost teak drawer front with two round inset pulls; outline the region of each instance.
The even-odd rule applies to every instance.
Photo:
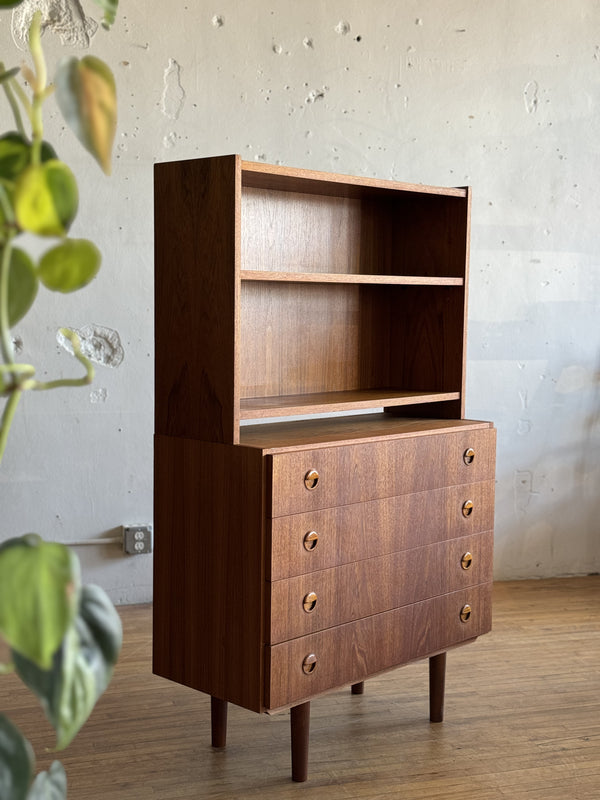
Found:
[[[491,480],[495,440],[485,428],[278,453],[271,516]]]

